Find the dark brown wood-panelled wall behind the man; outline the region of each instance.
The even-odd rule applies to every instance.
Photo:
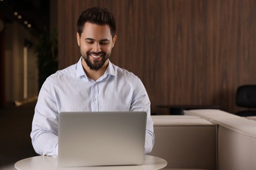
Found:
[[[80,56],[76,22],[88,7],[116,17],[111,61],[138,75],[156,105],[219,105],[240,110],[242,84],[256,84],[254,0],[58,0],[60,69]]]

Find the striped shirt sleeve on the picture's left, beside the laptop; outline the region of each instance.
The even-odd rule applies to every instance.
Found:
[[[58,156],[58,112],[51,78],[47,78],[39,92],[30,136],[37,154]]]

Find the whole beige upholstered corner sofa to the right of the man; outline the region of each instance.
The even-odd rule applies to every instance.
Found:
[[[156,139],[150,155],[167,160],[165,169],[256,169],[256,119],[215,109],[152,119]]]

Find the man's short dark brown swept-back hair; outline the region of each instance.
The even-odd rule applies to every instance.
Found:
[[[111,14],[108,9],[93,7],[91,9],[84,10],[77,20],[77,32],[80,37],[83,32],[83,26],[86,22],[98,25],[109,25],[112,37],[116,35],[116,20],[114,15]]]

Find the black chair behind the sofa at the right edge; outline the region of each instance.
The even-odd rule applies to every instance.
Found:
[[[247,108],[237,112],[238,116],[256,116],[256,85],[239,86],[236,91],[236,105]]]

